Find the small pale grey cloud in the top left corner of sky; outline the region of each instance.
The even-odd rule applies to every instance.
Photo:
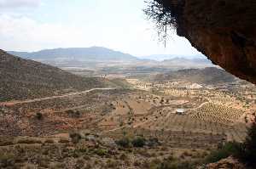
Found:
[[[0,8],[38,7],[41,0],[0,0]]]

